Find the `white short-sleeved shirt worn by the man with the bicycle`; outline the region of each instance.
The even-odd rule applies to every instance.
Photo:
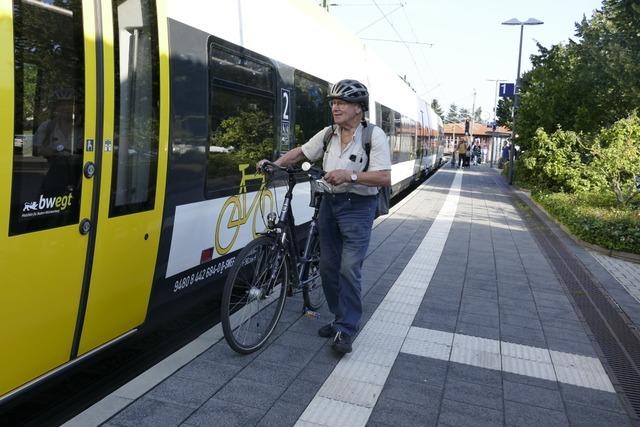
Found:
[[[370,125],[373,126],[373,125]],[[330,126],[316,133],[311,139],[302,145],[302,152],[311,161],[319,160],[324,156],[322,168],[327,171],[336,169],[347,169],[354,172],[362,172],[367,164],[367,153],[362,143],[362,125],[358,125],[353,133],[353,139],[342,149],[340,126],[335,126],[333,136],[327,145],[327,152],[323,152],[323,140],[327,129]],[[368,171],[391,170],[391,150],[389,139],[380,127],[376,126],[371,135],[371,159],[369,160]],[[328,185],[328,184],[327,184]],[[375,195],[378,193],[377,187],[347,182],[332,186],[334,193],[356,193],[363,196]]]

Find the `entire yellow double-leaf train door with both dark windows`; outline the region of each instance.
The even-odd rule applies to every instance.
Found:
[[[167,156],[163,28],[151,0],[0,0],[0,399],[144,320]],[[155,65],[136,61],[154,49]]]

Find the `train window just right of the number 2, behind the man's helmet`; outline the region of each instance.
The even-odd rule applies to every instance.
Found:
[[[297,144],[304,144],[313,135],[330,123],[327,95],[329,83],[296,71],[295,87],[295,138]]]

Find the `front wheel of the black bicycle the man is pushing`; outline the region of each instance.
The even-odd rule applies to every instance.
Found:
[[[288,286],[286,251],[276,239],[261,236],[240,251],[222,294],[222,330],[232,349],[249,354],[267,342]]]

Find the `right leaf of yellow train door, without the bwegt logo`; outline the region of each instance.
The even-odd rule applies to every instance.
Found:
[[[78,354],[145,319],[168,155],[168,119],[160,119],[168,111],[166,18],[158,19],[162,9],[154,0],[100,3],[103,61],[98,74],[103,76],[104,97],[102,144],[97,153],[100,191],[94,208],[91,279],[79,316]]]

